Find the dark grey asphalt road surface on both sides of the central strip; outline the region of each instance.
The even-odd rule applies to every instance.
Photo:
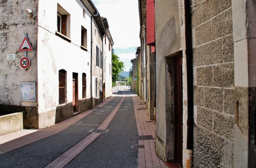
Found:
[[[128,86],[116,86],[113,88],[113,96],[116,97],[112,101],[102,107],[95,108],[92,113],[67,129],[0,155],[0,167],[46,167],[89,136],[91,134],[88,132],[90,129],[97,129],[123,97],[124,100],[120,108],[107,127],[109,131],[101,133],[65,167],[137,167],[138,149],[130,148],[130,146],[138,144],[138,141],[132,140],[132,136],[138,135],[133,99],[130,97],[135,95]]]

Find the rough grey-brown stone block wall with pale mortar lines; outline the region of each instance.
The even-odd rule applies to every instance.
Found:
[[[194,0],[194,4],[201,0]],[[234,43],[231,0],[191,8],[194,167],[233,167]]]

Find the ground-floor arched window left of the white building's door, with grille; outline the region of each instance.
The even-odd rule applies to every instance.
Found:
[[[59,71],[59,104],[66,103],[66,75],[67,71]]]

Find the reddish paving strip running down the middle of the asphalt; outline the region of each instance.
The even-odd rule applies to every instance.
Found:
[[[116,112],[119,110],[123,100],[124,100],[124,97],[120,100],[120,102],[116,105],[114,110],[109,114],[109,116],[102,122],[102,124],[97,129],[99,130],[107,129],[108,125],[116,115]],[[100,135],[101,133],[91,133],[89,136],[81,140],[78,144],[76,144],[74,147],[69,149],[64,154],[62,154],[59,158],[54,160],[45,168],[63,168],[70,161],[72,161],[75,158],[75,156],[77,156],[80,152],[82,152],[83,149],[85,149],[90,143],[92,143]]]

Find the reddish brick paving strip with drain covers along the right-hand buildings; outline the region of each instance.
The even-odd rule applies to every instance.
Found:
[[[149,120],[144,101],[138,96],[133,96],[133,105],[139,136],[151,135],[155,139],[155,122]],[[141,107],[143,109],[137,110]],[[156,155],[155,140],[139,140],[139,145],[144,145],[144,149],[139,149],[138,168],[167,168],[166,164]]]

